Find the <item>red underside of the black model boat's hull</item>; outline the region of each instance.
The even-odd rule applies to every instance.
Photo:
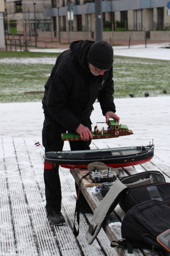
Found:
[[[119,167],[132,166],[132,165],[136,165],[136,164],[144,164],[144,163],[150,161],[152,159],[152,157],[147,158],[147,159],[138,160],[138,161],[128,162],[128,163],[119,163],[119,164],[115,163],[115,164],[106,164],[106,165],[113,167],[113,168],[119,168]],[[57,164],[57,165],[61,165],[61,167],[69,168],[69,169],[75,169],[75,168],[86,169],[88,164]]]

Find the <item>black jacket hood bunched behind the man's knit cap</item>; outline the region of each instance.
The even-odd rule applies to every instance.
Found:
[[[70,50],[73,53],[74,57],[78,60],[81,68],[84,68],[89,71],[87,66],[87,52],[89,51],[90,46],[95,43],[91,40],[79,40],[74,41],[70,44]]]

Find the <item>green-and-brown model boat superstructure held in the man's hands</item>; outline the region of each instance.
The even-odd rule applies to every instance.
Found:
[[[127,125],[119,124],[114,120],[109,120],[107,130],[105,130],[104,127],[99,130],[97,125],[94,127],[94,131],[92,131],[92,140],[117,138],[119,136],[130,134],[133,134],[133,132],[128,129]],[[80,135],[77,132],[61,133],[61,138],[62,140],[81,140]]]

